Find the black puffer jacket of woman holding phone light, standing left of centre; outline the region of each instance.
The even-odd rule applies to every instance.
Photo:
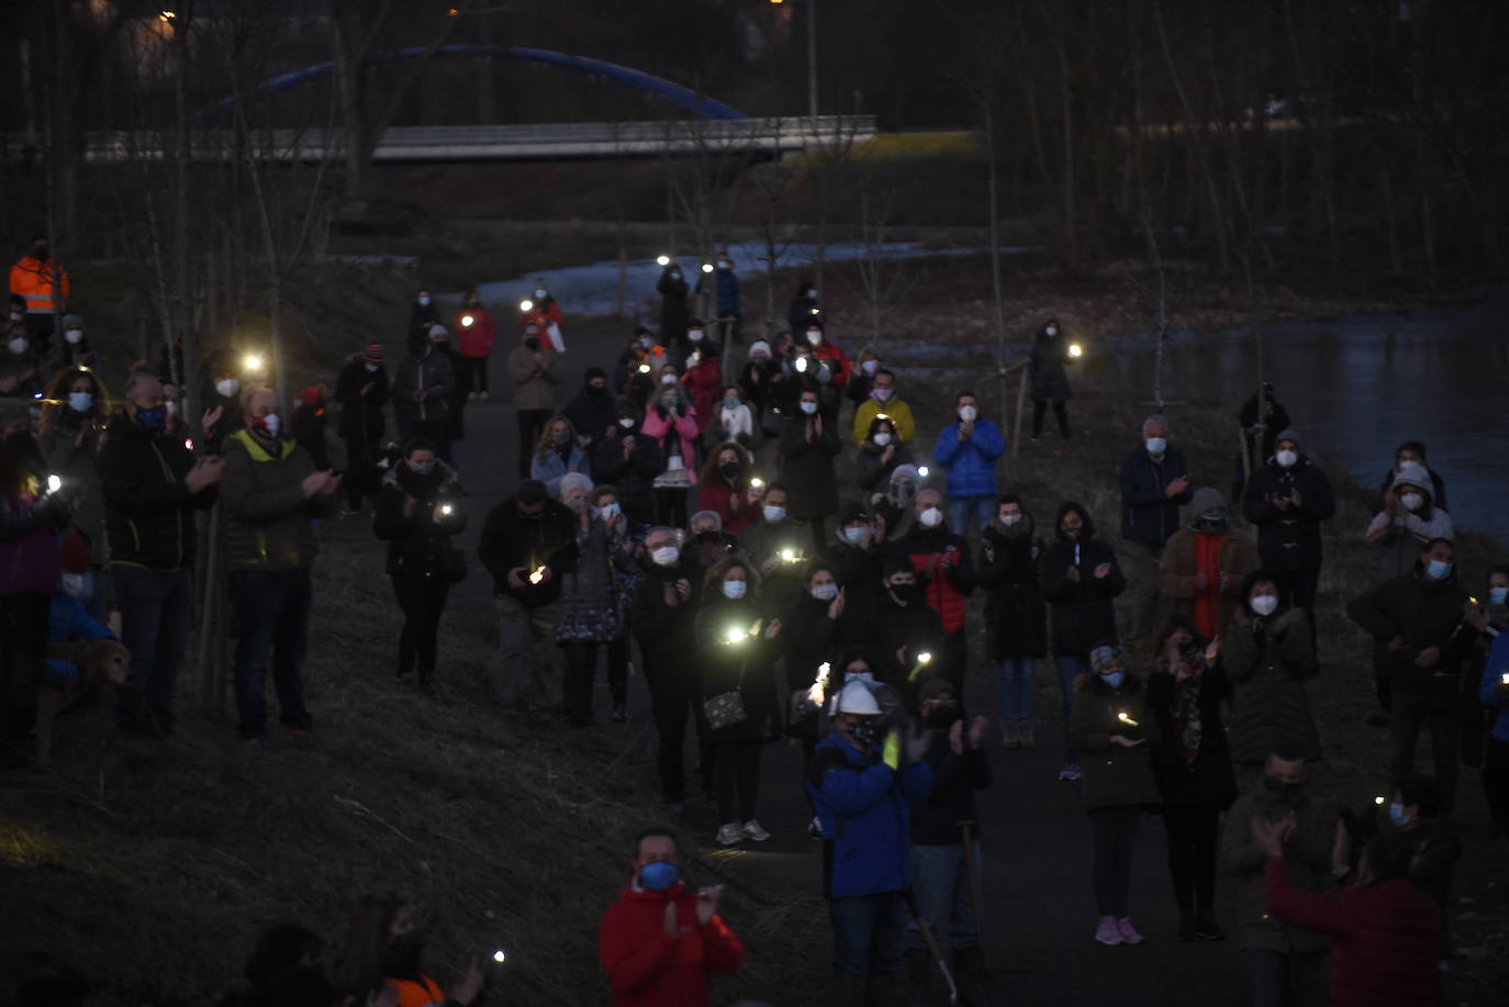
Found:
[[[377,494],[377,515],[373,531],[388,544],[388,572],[409,577],[444,577],[445,553],[451,536],[466,527],[460,483],[456,473],[441,460],[429,476],[410,473],[403,462],[388,470]],[[412,513],[404,516],[403,504],[413,497]],[[450,513],[442,509],[450,507]],[[439,512],[439,519],[436,513]]]

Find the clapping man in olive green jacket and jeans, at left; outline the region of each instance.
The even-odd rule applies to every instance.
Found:
[[[314,602],[309,568],[318,551],[314,519],[335,513],[341,477],[318,471],[309,453],[284,436],[278,399],[255,391],[246,429],[226,438],[225,544],[235,607],[235,708],[241,740],[263,744],[267,732],[269,658],[278,682],[281,722],[308,737],[303,660]]]

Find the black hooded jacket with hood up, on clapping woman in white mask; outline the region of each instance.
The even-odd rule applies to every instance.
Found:
[[[1117,639],[1114,599],[1126,590],[1127,580],[1117,563],[1115,550],[1096,537],[1096,524],[1083,507],[1076,503],[1061,506],[1053,528],[1062,525],[1064,515],[1070,510],[1079,513],[1085,522],[1083,530],[1077,540],[1058,531],[1058,540],[1043,553],[1038,583],[1043,586],[1043,598],[1052,605],[1053,652],[1089,654],[1097,645]],[[1111,563],[1111,574],[1096,580],[1096,568],[1102,563]],[[1079,583],[1068,578],[1071,566],[1079,569]]]

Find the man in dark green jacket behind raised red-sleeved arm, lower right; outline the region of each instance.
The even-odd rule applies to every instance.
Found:
[[[1274,752],[1263,767],[1263,779],[1227,812],[1221,861],[1227,874],[1237,879],[1239,942],[1252,1007],[1325,999],[1325,960],[1331,942],[1274,913],[1263,889],[1268,851],[1252,830],[1254,820],[1280,826],[1289,883],[1307,892],[1329,891],[1334,855],[1346,842],[1346,830],[1335,809],[1311,794],[1308,779],[1302,753]]]

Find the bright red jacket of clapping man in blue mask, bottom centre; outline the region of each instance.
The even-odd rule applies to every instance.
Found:
[[[676,939],[665,933],[665,903],[673,900]],[[602,916],[598,959],[614,1007],[706,1007],[708,975],[738,972],[744,945],[721,916],[697,924],[697,895],[685,885],[664,892],[631,885]]]

